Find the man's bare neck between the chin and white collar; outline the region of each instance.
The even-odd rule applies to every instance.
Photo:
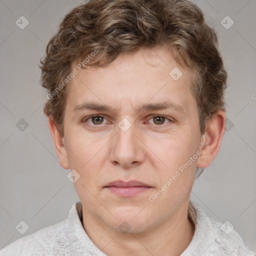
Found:
[[[121,233],[91,216],[83,207],[83,227],[90,239],[106,255],[178,256],[188,246],[194,234],[194,224],[188,219],[187,206],[175,215],[141,233]]]

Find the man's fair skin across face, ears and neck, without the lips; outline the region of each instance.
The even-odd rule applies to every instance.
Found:
[[[174,67],[183,73],[178,80],[169,75]],[[219,150],[225,113],[219,110],[201,134],[190,81],[188,70],[161,49],[120,55],[106,67],[90,67],[72,78],[64,136],[48,119],[61,166],[80,175],[74,186],[83,227],[106,255],[177,256],[192,239],[190,189],[196,167],[208,166]],[[140,109],[167,101],[175,107]],[[111,109],[82,107],[88,102]],[[99,117],[89,118],[92,114]],[[131,125],[126,131],[118,126],[123,118]],[[200,156],[149,201],[197,151]],[[147,187],[136,194],[117,194],[106,187],[114,180],[138,180]],[[125,231],[120,228],[123,221],[128,223]]]

